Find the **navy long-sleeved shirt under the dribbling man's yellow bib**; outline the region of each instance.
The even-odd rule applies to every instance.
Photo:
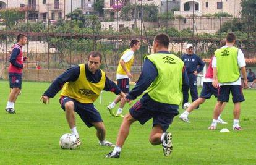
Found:
[[[85,64],[85,72],[86,72],[86,78],[89,82],[92,83],[98,83],[101,80],[101,72],[100,69],[96,70],[95,74],[92,74],[90,70],[88,70],[88,65]],[[67,69],[63,74],[59,75],[53,83],[49,86],[48,90],[45,91],[43,96],[48,96],[49,98],[53,98],[63,87],[64,83],[66,82],[75,82],[77,78],[79,78],[80,74],[80,67],[74,66],[69,69]],[[120,88],[117,87],[116,83],[109,80],[108,77],[106,77],[105,87],[103,90],[106,91],[112,91],[116,95],[121,93]]]

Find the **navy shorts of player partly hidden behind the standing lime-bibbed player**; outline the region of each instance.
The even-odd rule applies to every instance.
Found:
[[[211,95],[214,95],[216,98],[218,96],[218,88],[213,87],[212,82],[203,82],[200,98],[209,99],[211,98]]]

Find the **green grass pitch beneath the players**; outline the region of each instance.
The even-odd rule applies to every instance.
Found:
[[[241,132],[220,133],[233,126],[233,103],[228,103],[222,118],[228,124],[218,124],[210,131],[211,116],[216,99],[211,98],[190,114],[190,124],[174,119],[168,131],[173,134],[173,153],[164,157],[161,145],[148,142],[151,121],[145,125],[135,122],[122,148],[120,159],[107,159],[112,148],[98,145],[95,129],[88,129],[77,116],[77,129],[82,145],[77,150],[62,150],[59,138],[69,133],[58,96],[47,106],[40,103],[43,91],[50,83],[23,82],[22,95],[17,99],[17,114],[4,111],[9,95],[9,82],[0,81],[0,164],[256,164],[255,90],[244,90]],[[103,93],[95,103],[107,129],[106,140],[115,142],[122,119],[110,116],[106,106],[115,98]],[[125,107],[124,112],[128,111]],[[183,112],[183,110],[180,110]]]

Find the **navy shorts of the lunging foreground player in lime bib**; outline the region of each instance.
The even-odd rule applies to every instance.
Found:
[[[172,113],[148,110],[142,103],[140,103],[140,101],[137,101],[137,103],[130,108],[130,115],[142,125],[153,118],[153,127],[156,124],[159,124],[161,125],[163,132],[166,132],[169,125],[173,122],[174,116],[176,116],[176,114]]]

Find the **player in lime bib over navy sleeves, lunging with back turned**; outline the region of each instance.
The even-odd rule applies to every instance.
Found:
[[[149,141],[152,145],[163,145],[164,156],[169,156],[173,150],[172,135],[166,132],[174,116],[179,114],[179,104],[182,101],[182,89],[189,85],[189,78],[184,62],[177,56],[169,54],[169,36],[160,33],[155,36],[153,50],[145,58],[143,70],[135,87],[129,91],[126,101],[134,100],[143,91],[145,94],[130,108],[124,116],[116,146],[106,158],[120,158],[121,148],[128,137],[130,125],[135,121],[145,124],[153,118],[153,129]]]

